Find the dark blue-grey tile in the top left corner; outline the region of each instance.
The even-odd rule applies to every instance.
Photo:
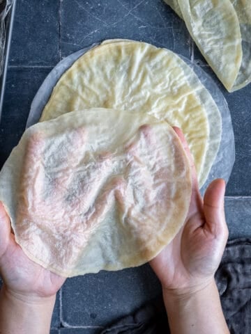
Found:
[[[10,65],[56,65],[59,0],[17,0]]]

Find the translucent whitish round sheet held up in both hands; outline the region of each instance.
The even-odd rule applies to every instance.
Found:
[[[185,221],[188,158],[146,113],[75,111],[30,127],[0,173],[17,243],[62,276],[151,260]]]

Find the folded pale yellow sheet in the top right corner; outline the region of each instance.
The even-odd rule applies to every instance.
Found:
[[[164,1],[184,19],[201,54],[229,92],[250,83],[250,0]]]

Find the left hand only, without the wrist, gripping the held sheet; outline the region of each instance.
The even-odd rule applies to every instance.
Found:
[[[15,241],[10,218],[1,202],[0,225],[0,273],[8,291],[24,300],[54,296],[66,278],[29,260]]]

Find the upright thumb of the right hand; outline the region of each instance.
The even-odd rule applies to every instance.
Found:
[[[204,215],[206,224],[204,228],[215,237],[225,237],[227,241],[228,229],[225,220],[224,196],[225,181],[216,179],[209,184],[204,195]]]

